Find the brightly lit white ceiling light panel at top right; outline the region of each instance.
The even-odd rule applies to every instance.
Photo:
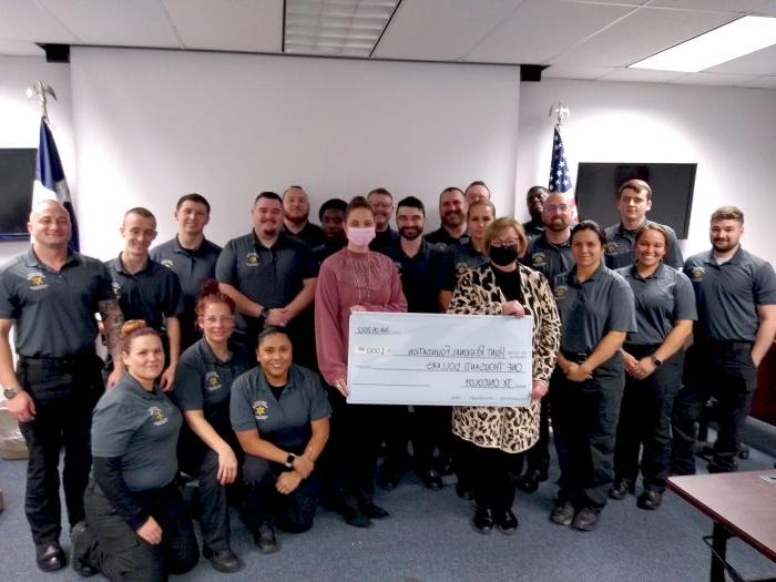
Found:
[[[696,73],[772,44],[776,44],[776,18],[744,17],[629,68]]]

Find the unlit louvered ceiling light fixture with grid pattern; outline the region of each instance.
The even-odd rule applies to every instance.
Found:
[[[399,0],[287,0],[285,52],[368,58]]]

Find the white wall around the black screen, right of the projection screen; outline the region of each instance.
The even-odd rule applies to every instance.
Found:
[[[548,112],[557,101],[571,110],[562,134],[574,177],[579,162],[696,162],[685,256],[709,247],[712,212],[734,204],[746,216],[744,246],[776,263],[776,91],[555,79],[522,83],[517,207],[523,213],[528,188],[547,184],[553,126]]]

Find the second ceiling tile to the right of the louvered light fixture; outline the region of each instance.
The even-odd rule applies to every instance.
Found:
[[[529,0],[467,54],[466,60],[547,63],[632,10],[622,6]]]

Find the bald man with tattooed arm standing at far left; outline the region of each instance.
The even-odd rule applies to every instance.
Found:
[[[0,267],[0,384],[29,449],[24,509],[38,568],[50,572],[67,563],[59,544],[62,448],[71,528],[84,519],[92,409],[104,391],[94,314],[102,316],[115,357],[123,319],[105,266],[68,248],[72,226],[59,202],[37,204],[27,227],[30,249]],[[121,374],[116,369],[109,382]]]

